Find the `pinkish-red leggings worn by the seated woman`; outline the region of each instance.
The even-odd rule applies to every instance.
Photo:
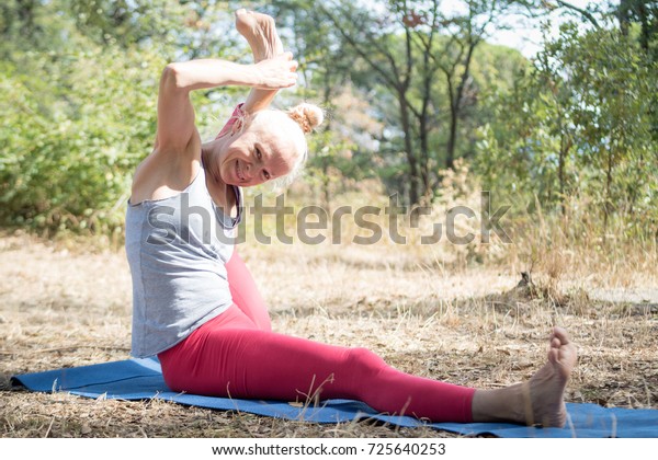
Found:
[[[171,390],[299,402],[307,396],[351,399],[382,413],[472,421],[472,388],[400,372],[365,348],[273,333],[264,301],[237,252],[226,268],[235,303],[158,355]]]

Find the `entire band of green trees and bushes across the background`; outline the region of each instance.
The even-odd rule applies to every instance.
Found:
[[[654,2],[273,1],[300,84],[276,105],[327,112],[306,181],[332,196],[376,177],[407,203],[439,203],[445,168],[473,184],[592,222],[603,235],[658,234],[658,19]],[[151,148],[167,61],[249,61],[238,2],[8,0],[0,5],[0,225],[121,232],[135,165]],[[248,4],[247,7],[254,7]],[[530,62],[487,43],[521,8],[569,13]],[[514,10],[517,9],[517,10]],[[193,94],[203,136],[239,90]],[[517,207],[518,209],[518,207]]]

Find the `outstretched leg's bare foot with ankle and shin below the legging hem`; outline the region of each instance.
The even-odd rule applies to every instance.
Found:
[[[532,378],[499,390],[477,390],[474,422],[515,422],[563,427],[567,421],[564,393],[577,361],[576,346],[561,327],[551,335],[548,361]]]

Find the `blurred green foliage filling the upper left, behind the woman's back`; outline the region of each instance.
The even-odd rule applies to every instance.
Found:
[[[133,172],[152,146],[161,69],[198,37],[196,26],[182,33],[197,13],[171,0],[2,8],[14,41],[0,46],[0,222],[121,233]],[[219,110],[212,96],[194,94],[202,131]]]

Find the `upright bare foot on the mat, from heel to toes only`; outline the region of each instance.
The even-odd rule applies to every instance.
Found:
[[[567,411],[564,393],[577,359],[576,346],[569,341],[567,331],[555,327],[551,336],[548,363],[532,376],[524,388],[526,402],[530,399],[532,407],[532,411],[526,411],[527,425],[565,426]]]

